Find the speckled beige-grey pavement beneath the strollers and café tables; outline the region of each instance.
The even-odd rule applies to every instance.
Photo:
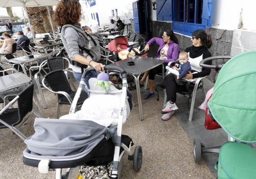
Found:
[[[56,96],[43,90],[47,109],[44,109],[47,118],[56,116]],[[141,96],[146,91],[141,88]],[[148,100],[142,99],[144,121],[139,120],[136,91],[132,91],[135,107],[130,117],[123,125],[123,134],[129,135],[136,145],[141,145],[143,150],[142,167],[139,172],[133,169],[132,161],[124,160],[122,179],[214,179],[207,164],[202,160],[195,163],[193,160],[193,143],[185,133],[180,119],[174,115],[169,121],[162,121],[163,94],[160,100],[155,97]],[[181,97],[181,99],[184,97]],[[183,103],[186,107],[187,103]],[[67,114],[68,105],[61,107],[61,115]],[[186,113],[182,111],[180,113]],[[180,114],[178,113],[178,114]],[[32,115],[20,130],[26,136],[34,133]],[[54,171],[40,174],[37,168],[26,166],[22,163],[22,151],[26,148],[23,141],[12,134],[10,129],[0,129],[0,179],[54,179]],[[133,147],[134,148],[134,147]],[[78,172],[73,169],[70,178],[75,179]]]

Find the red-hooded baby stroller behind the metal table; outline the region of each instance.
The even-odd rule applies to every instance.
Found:
[[[141,50],[140,48],[134,48],[133,46],[129,46],[129,42],[127,41],[125,36],[115,37],[112,41],[110,41],[110,43],[108,43],[108,49],[110,51],[111,56],[114,59],[113,62],[124,60],[132,56],[147,56],[147,52],[144,51],[144,49]],[[117,78],[115,79],[115,81],[111,81],[118,83],[120,80],[119,75],[113,72],[110,74]],[[129,90],[133,88],[133,85],[131,84],[133,80],[134,77],[128,74],[127,82]]]

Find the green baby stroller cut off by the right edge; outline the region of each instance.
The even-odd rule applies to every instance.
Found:
[[[231,58],[220,70],[207,103],[214,120],[229,136],[219,149],[218,179],[255,179],[256,51]],[[240,62],[250,61],[246,68]],[[248,145],[249,144],[249,145]]]

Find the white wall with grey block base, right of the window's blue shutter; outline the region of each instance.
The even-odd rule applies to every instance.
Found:
[[[212,27],[233,31],[231,56],[256,50],[255,7],[255,0],[214,0]]]

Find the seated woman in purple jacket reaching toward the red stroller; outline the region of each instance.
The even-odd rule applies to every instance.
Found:
[[[179,53],[179,46],[178,46],[178,39],[174,35],[172,30],[166,30],[163,32],[162,39],[153,37],[150,41],[147,42],[144,50],[148,51],[149,46],[156,42],[159,45],[157,50],[156,58],[162,59],[164,61],[164,69],[167,66],[168,62],[176,61],[178,59]],[[143,86],[146,77],[148,76],[149,82],[149,91],[144,96],[144,99],[148,99],[149,97],[154,95],[154,80],[157,73],[162,73],[162,65],[153,68],[152,70],[145,72],[143,77],[140,80],[141,85]]]

